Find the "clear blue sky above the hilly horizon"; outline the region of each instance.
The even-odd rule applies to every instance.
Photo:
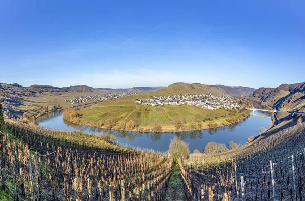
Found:
[[[305,81],[302,1],[2,1],[0,82]]]

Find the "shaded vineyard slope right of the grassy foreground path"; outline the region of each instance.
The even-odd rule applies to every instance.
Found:
[[[234,155],[180,162],[188,200],[303,200],[304,134],[301,123]]]

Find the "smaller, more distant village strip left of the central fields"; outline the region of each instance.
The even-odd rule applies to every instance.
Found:
[[[71,104],[78,104],[78,103],[87,103],[90,101],[100,101],[100,100],[112,100],[116,98],[121,98],[124,96],[129,96],[136,94],[136,92],[130,92],[130,93],[120,93],[120,94],[106,94],[106,95],[92,95],[92,96],[80,96],[73,100],[65,100],[66,102],[71,102]]]

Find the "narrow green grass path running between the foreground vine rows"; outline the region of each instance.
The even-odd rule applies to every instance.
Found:
[[[168,201],[186,200],[181,171],[178,164],[172,166],[171,175],[165,192],[165,199]]]

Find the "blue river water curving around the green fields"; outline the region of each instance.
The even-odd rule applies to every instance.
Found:
[[[261,127],[267,128],[268,124],[272,122],[270,118],[250,115],[235,124],[215,129],[172,133],[142,133],[107,130],[72,124],[63,120],[63,112],[64,111],[55,111],[53,113],[45,114],[41,118],[37,119],[37,123],[44,127],[64,129],[69,131],[80,131],[86,134],[91,133],[97,135],[102,133],[103,135],[115,137],[116,140],[120,143],[126,143],[132,146],[139,146],[141,148],[154,149],[159,151],[168,150],[170,139],[177,135],[180,136],[180,138],[182,138],[185,142],[189,143],[191,153],[195,149],[203,152],[204,147],[208,142],[211,141],[216,143],[225,143],[227,147],[230,141],[234,141],[238,144],[244,144],[247,142],[250,135],[255,137],[259,134]],[[270,112],[255,111],[254,114],[271,117]]]

